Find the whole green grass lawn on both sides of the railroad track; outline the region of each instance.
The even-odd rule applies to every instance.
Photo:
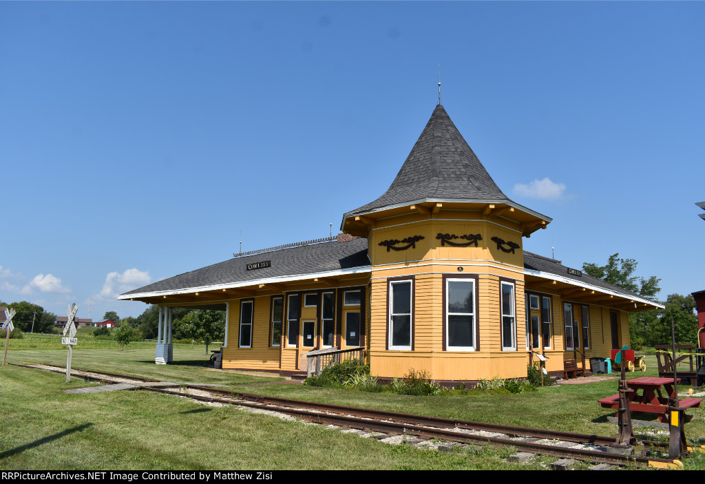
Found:
[[[13,349],[13,363],[66,364],[63,349]],[[81,341],[81,340],[80,340]],[[515,426],[615,435],[613,411],[597,399],[617,392],[617,381],[539,388],[519,395],[414,397],[294,384],[247,385],[271,378],[214,371],[204,347],[175,345],[175,364],[154,364],[154,343],[118,349],[75,347],[72,366],[164,380],[224,383],[243,392]],[[654,358],[654,357],[651,357]],[[655,376],[654,361],[646,373]],[[67,395],[89,384],[16,366],[0,367],[0,469],[527,469],[505,461],[508,449],[482,447],[436,452],[387,445],[320,426],[207,407],[152,392]],[[681,387],[681,391],[687,387]],[[705,408],[689,411],[689,441],[705,444]],[[645,418],[636,416],[635,418]],[[636,427],[637,434],[642,431]],[[543,469],[555,458],[529,466]],[[687,459],[705,468],[705,458]]]

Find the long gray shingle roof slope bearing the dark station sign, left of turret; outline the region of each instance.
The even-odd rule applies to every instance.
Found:
[[[247,264],[261,261],[271,261],[271,266],[247,271]],[[355,239],[350,242],[324,242],[228,259],[212,266],[175,275],[173,278],[125,292],[121,296],[129,297],[130,294],[228,285],[250,280],[325,273],[364,266],[369,267],[367,239]]]

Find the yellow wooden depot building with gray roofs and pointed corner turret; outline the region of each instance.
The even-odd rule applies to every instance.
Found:
[[[349,350],[381,378],[525,377],[537,354],[563,373],[628,345],[630,311],[663,306],[524,252],[550,222],[503,194],[439,104],[388,190],[345,213],[338,237],[238,254],[119,299],[160,306],[157,363],[172,358],[171,308],[194,306],[226,311],[223,368],[300,373],[309,352]]]

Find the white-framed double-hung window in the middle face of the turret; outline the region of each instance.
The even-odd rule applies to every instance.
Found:
[[[474,351],[475,280],[446,279],[446,349]]]

